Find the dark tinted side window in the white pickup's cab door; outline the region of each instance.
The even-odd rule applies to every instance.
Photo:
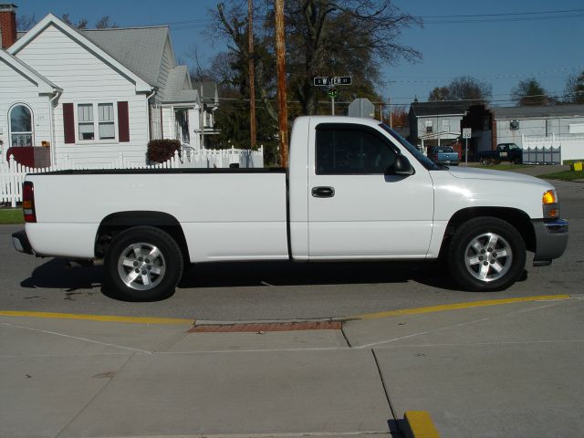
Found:
[[[384,174],[396,157],[389,141],[374,130],[326,124],[317,127],[318,175]]]

